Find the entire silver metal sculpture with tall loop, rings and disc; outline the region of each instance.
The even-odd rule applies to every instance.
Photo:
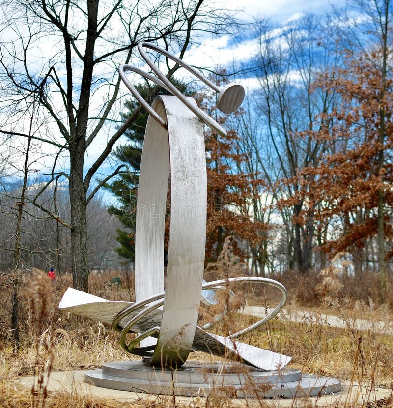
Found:
[[[203,122],[222,135],[225,134],[225,129],[199,109],[194,99],[184,97],[155,66],[144,48],[174,60],[217,91],[217,107],[224,113],[235,111],[244,98],[244,90],[240,85],[229,84],[219,89],[194,68],[167,51],[146,42],[138,45],[141,56],[157,77],[130,65],[122,65],[119,68],[126,86],[149,112],[137,203],[136,303],[107,301],[68,289],[59,308],[112,324],[113,329],[121,332],[122,348],[142,356],[148,366],[155,367],[147,369],[150,374],[151,370],[157,368],[179,370],[190,351],[195,350],[240,360],[259,370],[281,370],[288,364],[290,357],[235,339],[279,313],[286,301],[285,288],[271,279],[248,276],[202,284],[206,235],[206,153]],[[154,81],[173,96],[158,97],[150,107],[129,82],[126,71],[138,73]],[[170,234],[164,291],[164,223],[169,173]],[[212,324],[199,327],[197,320],[201,293],[204,303],[214,304],[214,291],[236,282],[261,283],[275,287],[281,291],[281,301],[264,319],[229,337],[207,332]],[[220,317],[222,315],[218,316],[216,321],[219,321]],[[130,331],[139,335],[127,344],[126,335]],[[152,337],[157,340],[146,341]],[[105,377],[101,373],[100,376],[100,380],[93,375],[87,377],[93,383],[105,383],[103,378],[108,379],[108,375]],[[279,374],[276,375],[277,378],[278,376]],[[298,377],[299,380],[300,374]],[[115,381],[111,381],[113,386]],[[146,381],[151,383],[152,380]],[[151,386],[153,388],[150,387],[150,391],[161,389],[158,385]],[[331,384],[330,387],[332,386]],[[321,387],[317,392],[320,392]]]

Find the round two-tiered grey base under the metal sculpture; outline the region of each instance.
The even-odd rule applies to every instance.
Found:
[[[87,371],[84,381],[121,391],[201,397],[220,390],[237,398],[312,397],[342,390],[338,379],[291,368],[261,371],[240,363],[203,361],[188,361],[175,371],[150,367],[142,361],[109,362],[100,370]]]

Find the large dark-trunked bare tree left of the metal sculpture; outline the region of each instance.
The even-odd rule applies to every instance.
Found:
[[[38,200],[34,203],[70,228],[73,286],[87,291],[87,204],[118,169],[107,171],[92,188],[94,176],[139,113],[117,126],[118,65],[138,63],[134,50],[140,41],[159,42],[182,57],[192,38],[226,32],[230,17],[203,0],[4,0],[1,8],[7,38],[0,44],[0,76],[7,83],[3,92],[12,102],[20,95],[39,99],[42,124],[33,138],[55,154],[48,187],[61,176],[68,178],[70,222]],[[171,72],[176,68],[168,65]],[[18,111],[16,117],[22,116]],[[27,137],[17,121],[6,120],[0,132]],[[93,147],[98,154],[87,168],[87,149]],[[66,171],[56,174],[60,165]]]

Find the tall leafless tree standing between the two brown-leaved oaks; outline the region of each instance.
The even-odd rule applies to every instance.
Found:
[[[299,220],[304,203],[298,193],[307,188],[299,171],[315,163],[326,148],[304,131],[326,125],[322,117],[333,108],[335,98],[310,91],[316,76],[337,63],[321,26],[321,20],[310,15],[281,30],[259,26],[255,57],[260,83],[256,109],[264,126],[250,140],[274,202],[280,204],[287,268],[301,272],[312,264],[315,226],[312,211],[307,220]]]

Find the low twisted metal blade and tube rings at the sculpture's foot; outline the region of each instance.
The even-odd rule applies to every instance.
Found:
[[[222,288],[225,284],[230,284],[232,282],[263,282],[275,287],[282,289],[282,285],[276,281],[267,278],[258,277],[240,277],[240,278],[230,278],[228,280],[214,281],[206,283],[203,285],[203,289],[208,288]],[[285,292],[283,292],[285,293]],[[112,324],[112,326],[121,331],[120,344],[123,349],[129,351],[136,355],[141,355],[144,360],[151,365],[157,365],[159,367],[174,368],[173,361],[176,362],[177,366],[184,363],[181,359],[182,351],[184,351],[184,345],[180,343],[182,339],[182,331],[177,332],[178,337],[174,336],[174,340],[171,343],[171,351],[175,355],[175,358],[168,360],[164,353],[162,354],[161,361],[159,364],[154,364],[152,361],[152,350],[157,349],[157,345],[153,347],[138,348],[140,340],[147,336],[159,337],[160,335],[160,324],[162,324],[162,319],[164,313],[158,308],[163,305],[164,295],[167,292],[160,293],[156,296],[150,297],[141,301],[139,303],[121,302],[121,301],[108,301],[97,296],[90,295],[81,291],[76,291],[75,289],[68,288],[65,292],[59,308],[82,315],[91,319],[98,319],[102,322]],[[247,333],[260,325],[266,323],[266,321],[272,319],[282,308],[285,303],[286,296],[283,295],[281,302],[276,306],[276,308],[265,318],[254,323],[252,326],[245,328],[237,333],[234,333],[230,337],[222,337],[216,334],[208,333],[205,331],[207,325],[204,327],[196,326],[194,330],[193,337],[191,339],[191,346],[187,349],[189,353],[192,351],[203,351],[219,357],[232,358],[235,361],[239,359],[247,363],[250,366],[259,368],[261,370],[277,370],[284,367],[291,360],[290,357],[275,353],[270,350],[260,349],[245,343],[234,340],[240,335]],[[199,305],[200,294],[197,304]],[[153,303],[150,307],[146,307],[147,304]],[[177,317],[175,318],[175,320]],[[211,325],[209,325],[211,327]],[[125,336],[129,331],[142,333],[130,344],[125,343]],[[158,342],[157,342],[158,344]],[[171,364],[168,364],[171,363]]]

